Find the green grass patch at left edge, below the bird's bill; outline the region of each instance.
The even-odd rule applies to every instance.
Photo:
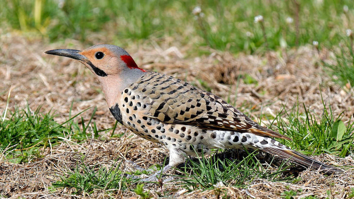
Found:
[[[65,122],[59,124],[54,120],[55,114],[42,113],[41,106],[34,111],[29,106],[23,109],[15,108],[13,113],[4,111],[0,117],[0,150],[5,153],[8,161],[20,163],[27,162],[30,158],[39,158],[42,148],[60,144],[62,137],[70,135],[74,140],[86,140],[90,136],[87,131],[91,130],[88,126],[95,111],[96,109],[86,126],[82,117],[81,124],[74,121],[82,112],[74,116],[69,115]],[[94,122],[92,126],[94,136],[98,137],[99,131]]]

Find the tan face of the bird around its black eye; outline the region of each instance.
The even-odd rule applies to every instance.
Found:
[[[79,54],[85,56],[92,63],[93,66],[89,62],[84,60],[81,61],[87,68],[92,70],[92,72],[96,73],[98,76],[102,76],[98,74],[99,70],[102,70],[107,75],[113,75],[120,73],[123,67],[125,67],[125,64],[121,58],[117,57],[113,52],[105,47],[85,49],[79,52]],[[99,70],[95,70],[94,67]]]

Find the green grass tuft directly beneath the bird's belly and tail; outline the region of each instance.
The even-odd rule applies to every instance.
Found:
[[[293,175],[283,175],[288,169],[284,164],[285,161],[280,164],[277,171],[271,171],[262,166],[256,158],[258,154],[256,151],[252,153],[247,151],[239,153],[239,150],[221,151],[214,153],[210,158],[187,158],[187,164],[177,168],[183,174],[178,176],[181,177],[181,185],[189,191],[194,191],[214,189],[218,182],[222,182],[225,186],[245,187],[255,178],[278,182],[292,182],[295,179]],[[240,155],[243,153],[244,155]],[[235,154],[240,155],[240,160]]]

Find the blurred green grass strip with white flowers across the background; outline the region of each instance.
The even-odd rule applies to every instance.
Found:
[[[74,38],[87,43],[92,41],[90,33],[98,32],[106,38],[101,38],[103,41],[119,45],[172,37],[182,45],[192,41],[195,48],[209,45],[232,52],[259,51],[266,45],[269,49],[294,47],[314,40],[326,46],[338,44],[350,28],[344,27],[343,20],[353,18],[354,6],[351,0],[0,2],[2,25],[38,32],[51,41]],[[349,7],[347,13],[344,5]],[[195,6],[201,7],[202,15],[193,15]],[[254,23],[257,15],[264,17],[267,41],[261,25]],[[288,17],[293,23],[286,22]]]

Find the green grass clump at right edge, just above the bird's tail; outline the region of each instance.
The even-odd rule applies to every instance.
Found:
[[[300,103],[296,103],[291,110],[282,109],[274,119],[277,120],[276,127],[292,141],[279,141],[304,154],[329,153],[345,157],[353,148],[354,122],[349,121],[345,126],[341,115],[333,116],[330,103],[326,104],[322,99],[322,104],[321,115],[316,115]]]

